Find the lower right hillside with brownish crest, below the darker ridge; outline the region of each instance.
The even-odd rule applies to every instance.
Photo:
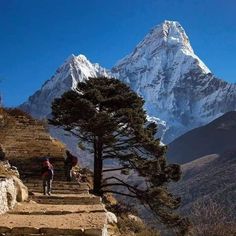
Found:
[[[216,201],[224,211],[236,212],[236,149],[208,155],[182,165],[182,179],[173,186],[182,198],[182,211],[196,202]],[[190,212],[188,212],[190,213]]]

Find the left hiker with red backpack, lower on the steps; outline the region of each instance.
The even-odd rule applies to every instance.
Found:
[[[42,178],[43,178],[43,194],[51,195],[52,180],[53,180],[53,165],[50,163],[49,158],[45,158],[42,164]]]

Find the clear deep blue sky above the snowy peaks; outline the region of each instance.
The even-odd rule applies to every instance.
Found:
[[[72,53],[111,68],[155,25],[177,20],[216,76],[236,82],[234,0],[0,0],[0,91],[16,106]]]

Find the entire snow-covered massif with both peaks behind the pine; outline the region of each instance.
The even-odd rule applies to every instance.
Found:
[[[210,72],[175,21],[154,27],[111,73],[145,99],[149,120],[160,124],[159,134],[165,143],[236,110],[236,85]],[[109,74],[85,56],[72,55],[20,108],[44,118],[50,114],[54,98],[74,89],[78,81]]]

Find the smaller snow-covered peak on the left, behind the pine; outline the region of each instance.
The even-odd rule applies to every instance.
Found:
[[[55,75],[42,88],[29,97],[20,108],[36,118],[45,118],[51,113],[51,103],[64,92],[75,89],[79,81],[89,77],[108,76],[106,69],[92,64],[84,55],[71,55]]]

